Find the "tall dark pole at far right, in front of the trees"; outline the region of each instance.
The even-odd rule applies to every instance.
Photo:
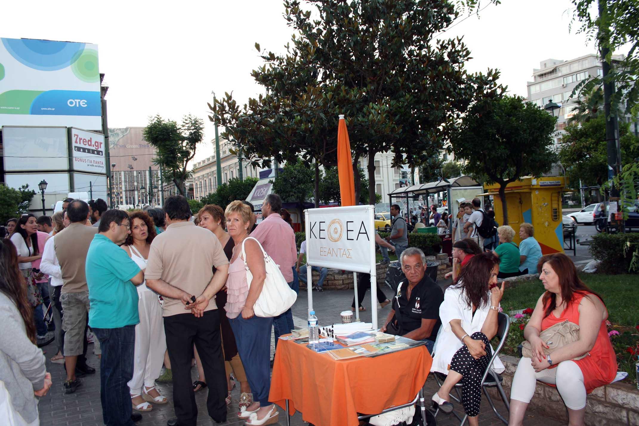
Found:
[[[607,22],[608,5],[606,0],[599,0],[599,20]],[[608,181],[610,182],[610,201],[617,201],[619,205],[619,187],[615,186],[613,179],[621,172],[621,155],[619,146],[619,125],[617,116],[611,116],[610,99],[615,92],[615,83],[606,77],[610,74],[611,62],[608,62],[608,56],[612,56],[610,52],[610,27],[599,27],[597,33],[597,41],[599,42],[599,54],[601,55],[601,65],[603,68],[603,99],[604,114],[606,116],[606,154],[608,156]]]

